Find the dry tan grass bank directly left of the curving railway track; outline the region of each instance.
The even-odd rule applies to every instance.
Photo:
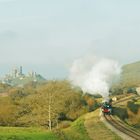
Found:
[[[85,128],[91,140],[122,140],[118,135],[107,128],[99,117],[100,110],[88,113],[85,116]]]

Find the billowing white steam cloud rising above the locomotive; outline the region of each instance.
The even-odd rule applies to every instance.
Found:
[[[88,56],[73,62],[69,79],[75,86],[80,86],[84,92],[98,93],[107,97],[110,86],[119,77],[120,72],[118,62]]]

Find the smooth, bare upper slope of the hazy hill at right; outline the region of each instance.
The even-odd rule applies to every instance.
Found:
[[[140,85],[140,61],[122,67],[121,83],[128,87]]]

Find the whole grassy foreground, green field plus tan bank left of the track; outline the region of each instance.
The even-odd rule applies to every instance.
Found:
[[[121,140],[99,119],[99,110],[80,117],[69,128],[48,132],[39,128],[0,127],[0,140]]]

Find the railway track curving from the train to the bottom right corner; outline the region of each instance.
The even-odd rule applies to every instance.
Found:
[[[127,126],[123,125],[121,122],[115,120],[112,115],[104,115],[104,118],[108,123],[110,123],[116,129],[120,130],[121,132],[125,133],[126,135],[130,136],[135,140],[140,140],[140,133],[128,128]]]

